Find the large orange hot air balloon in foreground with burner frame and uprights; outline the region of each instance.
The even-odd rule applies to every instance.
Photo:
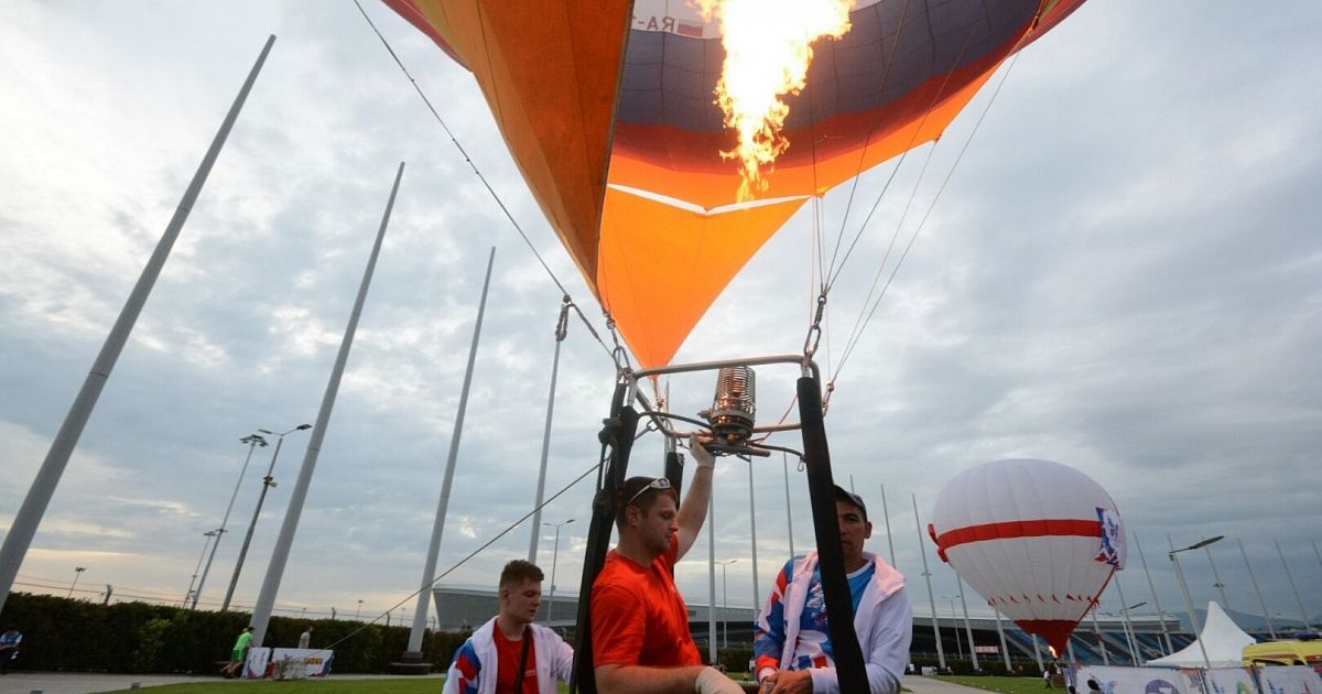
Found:
[[[661,373],[730,280],[806,201],[937,139],[1006,58],[1083,0],[385,3],[473,73],[529,189],[641,366],[620,369],[602,432],[611,455],[583,563],[575,662],[576,683],[591,693],[586,609],[637,428],[637,381]],[[735,5],[751,11],[747,22],[732,21]],[[804,42],[797,12],[808,5],[832,5],[847,28],[813,24],[809,34],[829,38]],[[771,149],[761,159],[744,149],[743,98],[732,86],[744,74],[731,65],[765,67],[743,61],[760,56],[746,49],[767,48],[776,32],[804,70],[802,79],[784,70],[795,82],[773,90],[776,103],[765,110],[777,122],[752,128],[754,144]],[[800,59],[808,54],[810,62]],[[826,608],[839,625],[841,689],[863,691],[843,560],[832,541],[833,480],[813,349],[788,356],[802,378],[800,422],[787,427],[802,432]],[[787,430],[755,428],[751,410],[728,407],[754,389],[744,387],[750,374],[726,371],[787,362],[781,357],[720,366],[711,431],[747,438]],[[673,480],[677,432],[666,412],[645,408],[668,436]]]

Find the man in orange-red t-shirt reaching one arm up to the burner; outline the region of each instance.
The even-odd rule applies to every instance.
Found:
[[[620,542],[592,584],[592,661],[603,694],[742,694],[702,664],[689,633],[689,608],[674,586],[674,564],[707,520],[711,453],[694,439],[698,471],[683,506],[665,477],[629,477],[615,525]]]

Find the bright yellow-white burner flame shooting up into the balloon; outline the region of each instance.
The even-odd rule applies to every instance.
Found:
[[[767,189],[761,168],[789,148],[780,130],[789,115],[781,100],[808,83],[812,42],[849,30],[854,0],[698,0],[706,21],[720,25],[726,62],[717,83],[717,104],[738,144],[720,152],[739,159],[739,202]]]

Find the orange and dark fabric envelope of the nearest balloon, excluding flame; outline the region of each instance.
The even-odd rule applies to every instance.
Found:
[[[736,204],[719,26],[683,0],[385,0],[477,78],[524,178],[642,366],[668,364],[810,197],[940,136],[1084,0],[857,0]]]

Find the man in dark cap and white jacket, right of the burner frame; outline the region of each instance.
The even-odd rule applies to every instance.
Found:
[[[914,611],[904,592],[904,575],[863,551],[863,542],[873,537],[873,523],[867,522],[867,508],[858,494],[836,486],[836,517],[869,690],[898,693],[914,638]],[[758,616],[754,656],[763,694],[839,691],[816,551],[792,558],[776,575]]]

